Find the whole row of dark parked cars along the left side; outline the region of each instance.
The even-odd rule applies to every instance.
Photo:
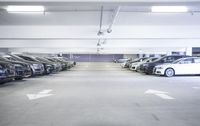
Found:
[[[48,75],[76,65],[63,57],[39,57],[22,54],[0,55],[0,83],[26,77]]]

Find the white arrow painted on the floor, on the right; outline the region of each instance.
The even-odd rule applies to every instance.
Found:
[[[154,94],[162,99],[175,99],[168,94],[168,92],[164,92],[164,91],[158,91],[158,90],[153,90],[153,89],[149,89],[145,92],[145,94]]]

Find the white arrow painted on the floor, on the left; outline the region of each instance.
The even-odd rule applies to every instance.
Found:
[[[26,96],[28,97],[29,100],[35,100],[39,98],[52,96],[53,94],[49,94],[51,91],[52,91],[51,89],[47,89],[47,90],[42,90],[41,92],[37,94],[27,94]]]

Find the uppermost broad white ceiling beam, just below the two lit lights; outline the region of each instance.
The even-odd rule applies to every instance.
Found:
[[[97,39],[98,26],[0,26],[0,39]],[[200,25],[115,26],[103,38],[200,39]]]

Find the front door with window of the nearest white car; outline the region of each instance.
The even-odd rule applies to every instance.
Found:
[[[187,58],[180,60],[178,63],[175,64],[175,74],[194,74],[194,62],[193,58]]]

